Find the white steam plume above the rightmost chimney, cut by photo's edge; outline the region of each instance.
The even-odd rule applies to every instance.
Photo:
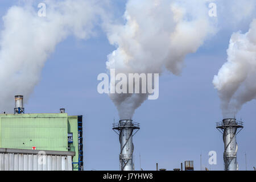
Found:
[[[213,85],[221,98],[223,116],[232,117],[256,98],[256,19],[248,32],[232,35],[227,53],[228,61],[214,76]]]

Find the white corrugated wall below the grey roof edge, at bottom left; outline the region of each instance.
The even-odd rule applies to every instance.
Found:
[[[0,152],[0,171],[72,171],[72,156]]]

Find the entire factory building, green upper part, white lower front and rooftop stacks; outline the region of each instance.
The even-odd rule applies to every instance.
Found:
[[[51,163],[41,169],[81,171],[82,146],[82,115],[70,116],[65,109],[60,109],[60,113],[24,114],[23,96],[15,96],[14,114],[0,114],[0,169],[12,165],[9,169],[40,169],[30,158],[39,158],[41,152]],[[20,165],[15,163],[16,154],[16,160],[26,167],[15,166]],[[20,155],[22,159],[18,159]]]

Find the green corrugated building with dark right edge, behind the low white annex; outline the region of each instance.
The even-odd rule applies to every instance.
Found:
[[[0,114],[0,148],[75,151],[73,170],[82,170],[82,116],[61,112]]]

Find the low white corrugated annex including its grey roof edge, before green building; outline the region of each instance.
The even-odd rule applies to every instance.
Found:
[[[75,152],[0,148],[0,171],[72,171]]]

